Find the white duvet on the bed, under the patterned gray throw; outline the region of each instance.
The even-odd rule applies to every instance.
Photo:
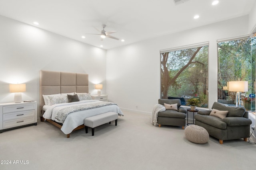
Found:
[[[60,109],[62,109],[64,107],[79,106],[79,105],[84,105],[84,104],[95,104],[95,103],[99,103],[99,102],[101,102],[101,101],[99,101],[99,100],[82,100],[79,102],[54,104],[52,106],[47,107],[46,111],[44,112],[43,117],[45,119],[51,119],[51,120],[58,122],[58,120],[55,119],[56,114],[58,113],[58,111]],[[69,134],[76,127],[83,125],[84,119],[86,117],[99,115],[99,114],[106,113],[109,111],[116,112],[116,113],[118,113],[118,115],[122,115],[122,116],[124,115],[122,113],[121,109],[117,105],[109,105],[109,106],[98,107],[98,108],[94,108],[94,109],[77,111],[77,112],[68,114],[68,116],[66,117],[66,119],[62,125],[62,128],[60,130],[65,134]]]

